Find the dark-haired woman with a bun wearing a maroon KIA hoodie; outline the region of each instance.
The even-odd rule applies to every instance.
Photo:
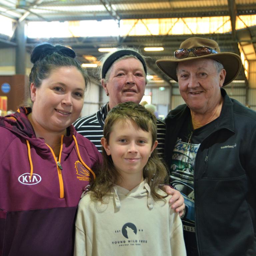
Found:
[[[0,117],[0,255],[73,255],[83,188],[101,161],[72,123],[88,77],[73,50],[42,44],[32,54],[31,107]]]

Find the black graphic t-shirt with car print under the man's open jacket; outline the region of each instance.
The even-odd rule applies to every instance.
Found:
[[[216,119],[217,120],[217,119]],[[195,233],[194,172],[201,142],[215,129],[215,121],[193,130],[191,120],[176,140],[170,165],[170,185],[184,197],[183,234],[188,256],[198,255]]]

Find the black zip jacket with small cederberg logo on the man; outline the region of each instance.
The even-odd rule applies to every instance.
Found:
[[[195,159],[195,224],[199,255],[256,255],[256,112],[231,99]],[[184,104],[166,117],[165,156],[190,118]],[[185,241],[186,242],[186,241]]]

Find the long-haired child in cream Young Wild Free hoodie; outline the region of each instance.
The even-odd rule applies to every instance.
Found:
[[[78,206],[74,255],[186,255],[180,217],[161,189],[168,175],[156,135],[156,118],[143,106],[109,112],[103,166]]]

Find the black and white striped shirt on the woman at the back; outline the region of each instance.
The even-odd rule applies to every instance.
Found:
[[[78,133],[90,140],[102,152],[100,139],[103,137],[103,127],[108,114],[108,102],[96,113],[77,119],[73,125]],[[157,119],[158,154],[163,157],[165,140],[165,123]]]

